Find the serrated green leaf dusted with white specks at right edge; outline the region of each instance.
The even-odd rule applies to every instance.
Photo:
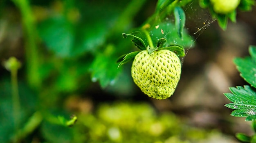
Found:
[[[244,87],[230,87],[232,93],[224,93],[224,95],[234,104],[226,104],[228,108],[236,109],[231,115],[235,117],[249,117],[248,119],[256,119],[256,92],[245,85]]]

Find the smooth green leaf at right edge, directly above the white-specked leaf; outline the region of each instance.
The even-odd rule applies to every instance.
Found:
[[[250,85],[256,87],[256,47],[250,46],[249,53],[252,57],[235,58],[234,63],[241,73],[240,76],[242,76],[242,78],[244,78]]]

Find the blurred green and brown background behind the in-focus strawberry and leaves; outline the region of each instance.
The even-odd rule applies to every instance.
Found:
[[[223,31],[198,0],[185,6],[193,44],[174,95],[155,100],[132,81],[131,62],[117,68],[116,60],[136,50],[122,33],[142,26],[156,3],[2,0],[0,61],[14,56],[22,67],[15,117],[10,72],[0,67],[0,142],[235,143],[236,132],[252,134],[251,122],[230,116],[223,93],[247,85],[232,60],[256,45],[256,7]],[[71,115],[78,120],[65,126]]]

